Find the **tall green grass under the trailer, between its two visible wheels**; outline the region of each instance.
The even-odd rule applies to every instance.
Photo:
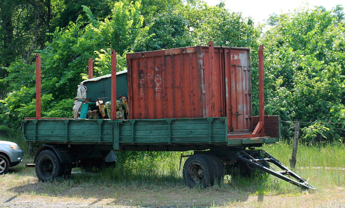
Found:
[[[127,184],[172,184],[181,182],[178,171],[179,152],[120,152],[116,168],[96,169],[99,175],[80,175],[75,179],[104,183],[120,182]],[[183,164],[183,163],[182,163]]]

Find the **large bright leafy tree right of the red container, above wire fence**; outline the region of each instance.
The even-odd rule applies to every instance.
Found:
[[[273,27],[261,39],[266,46],[268,114],[286,121],[344,122],[345,35],[340,11],[301,8],[270,17]],[[313,125],[303,131],[310,139],[330,127]]]

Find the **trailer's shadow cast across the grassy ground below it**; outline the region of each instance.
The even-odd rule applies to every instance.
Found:
[[[178,176],[157,179],[152,177],[148,180],[110,180],[102,177],[105,173],[107,171],[99,174],[74,173],[70,178],[58,178],[48,183],[38,182],[33,177],[8,191],[17,195],[95,199],[92,203],[107,200],[108,205],[114,206],[209,207],[245,202],[253,195],[258,195],[263,200],[267,193],[263,187],[267,187],[269,181],[264,177],[255,180],[240,176],[231,179],[227,176],[225,183],[220,185],[187,188]]]

